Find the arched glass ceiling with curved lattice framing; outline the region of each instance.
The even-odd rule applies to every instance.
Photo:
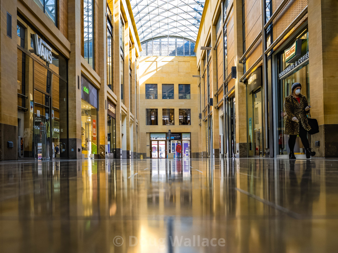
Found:
[[[140,41],[159,36],[195,40],[205,0],[130,0]]]

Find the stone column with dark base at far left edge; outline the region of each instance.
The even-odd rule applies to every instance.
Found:
[[[0,160],[17,160],[17,3],[16,1],[1,1],[0,7]],[[11,15],[11,37],[7,36],[7,12]],[[13,142],[13,148],[7,147],[7,141]]]

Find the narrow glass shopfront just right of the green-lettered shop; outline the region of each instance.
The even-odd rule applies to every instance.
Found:
[[[107,99],[107,135],[108,135],[108,153],[116,158],[116,106]]]

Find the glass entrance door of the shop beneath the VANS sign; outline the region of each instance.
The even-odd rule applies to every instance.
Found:
[[[50,159],[50,96],[34,90],[35,158]]]

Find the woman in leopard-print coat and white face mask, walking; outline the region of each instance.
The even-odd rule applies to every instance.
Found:
[[[287,114],[284,133],[290,135],[289,159],[296,159],[294,146],[296,144],[297,135],[299,135],[301,142],[305,147],[306,158],[310,158],[316,154],[316,152],[311,151],[310,149],[307,133],[311,127],[308,123],[306,114],[310,112],[311,106],[308,104],[306,96],[300,94],[300,90],[300,83],[292,84],[291,94],[284,100],[284,109]]]

